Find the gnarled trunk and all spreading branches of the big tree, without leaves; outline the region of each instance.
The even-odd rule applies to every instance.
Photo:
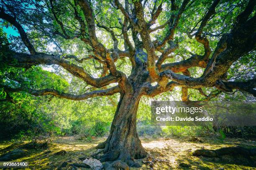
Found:
[[[120,14],[123,14],[124,17],[123,22],[122,19],[118,20],[119,24],[122,26],[122,28],[120,28],[122,35],[119,37],[123,38],[125,49],[120,50],[118,49],[119,42],[117,38],[118,35],[115,34],[116,32],[114,32],[110,26],[95,23],[97,18],[94,14],[91,1],[74,0],[74,3],[71,3],[71,8],[74,9],[74,20],[77,20],[80,25],[80,33],[71,36],[68,32],[69,28],[65,26],[64,21],[58,16],[55,4],[57,2],[50,0],[49,8],[51,8],[51,13],[54,18],[52,22],[56,21],[60,27],[60,30],[53,31],[54,34],[60,35],[67,40],[80,38],[82,42],[91,47],[92,54],[82,59],[78,59],[74,55],[62,56],[51,55],[49,54],[50,52],[36,52],[33,44],[29,41],[26,32],[21,26],[22,24],[19,23],[19,21],[22,22],[22,20],[16,18],[15,14],[12,16],[13,11],[8,11],[10,9],[8,6],[0,7],[0,18],[17,28],[21,40],[30,52],[30,54],[26,54],[10,50],[10,60],[15,59],[18,63],[12,65],[11,63],[13,62],[9,60],[5,61],[8,65],[25,68],[33,65],[59,65],[71,75],[80,78],[88,85],[101,88],[100,90],[86,92],[82,95],[72,95],[51,89],[33,90],[24,87],[22,84],[17,87],[1,85],[0,87],[4,88],[5,92],[7,92],[6,100],[12,100],[9,93],[18,91],[25,91],[36,96],[54,95],[71,100],[84,100],[90,97],[120,93],[120,101],[111,125],[110,135],[104,143],[101,143],[97,147],[104,149],[104,154],[99,158],[102,162],[114,161],[107,166],[107,169],[118,169],[118,167],[125,169],[127,166],[124,163],[129,166],[137,167],[138,165],[134,163],[133,158],[138,159],[146,156],[146,151],[142,147],[136,132],[138,104],[143,95],[153,97],[163,92],[171,91],[175,86],[179,86],[182,87],[183,101],[189,100],[188,88],[199,90],[201,94],[207,97],[205,99],[206,101],[220,94],[221,91],[232,92],[233,89],[248,92],[256,96],[255,78],[247,82],[227,82],[223,80],[223,76],[235,61],[256,48],[256,15],[253,13],[253,9],[256,5],[255,0],[249,0],[245,10],[237,16],[231,31],[220,38],[212,57],[209,59],[212,50],[210,49],[207,37],[203,35],[204,27],[212,18],[212,15],[215,14],[215,7],[220,3],[220,0],[214,0],[212,4],[209,5],[210,7],[205,15],[199,21],[200,26],[197,28],[196,25],[196,30],[194,30],[194,28],[190,32],[187,32],[189,38],[195,36],[197,42],[203,45],[204,54],[191,54],[191,57],[186,60],[166,64],[162,63],[164,63],[167,58],[172,57],[170,54],[179,47],[178,44],[176,44],[178,42],[174,43],[174,41],[172,41],[174,40],[175,30],[178,29],[179,20],[193,2],[183,0],[180,4],[177,4],[175,0],[171,0],[170,10],[172,11],[172,15],[170,15],[166,23],[155,28],[150,27],[156,23],[162,11],[162,3],[165,2],[162,1],[158,7],[156,7],[155,2],[149,22],[146,22],[144,16],[146,0],[133,0],[132,2],[133,3],[130,3],[130,1],[125,0],[125,7],[123,7],[119,0],[114,0],[111,4],[115,10],[120,10]],[[142,4],[142,2],[144,4]],[[82,10],[84,17],[79,16],[82,14],[78,13],[78,8]],[[249,17],[250,15],[252,16]],[[84,18],[84,20],[82,18]],[[165,28],[167,25],[169,28],[166,35],[163,35],[159,40],[151,40],[151,32]],[[113,40],[112,49],[107,49],[98,41],[96,26],[110,33],[111,39]],[[129,40],[128,31],[131,32],[133,43]],[[191,35],[193,32],[195,33]],[[146,52],[144,50],[146,50]],[[161,55],[157,56],[156,51],[160,52]],[[115,66],[115,62],[122,57],[128,57],[131,61],[132,70],[129,76],[118,71]],[[76,62],[72,63],[71,60],[73,59],[78,62],[78,64],[76,64]],[[86,72],[84,67],[79,66],[84,60],[93,60],[102,64],[101,76],[92,77]],[[192,77],[188,70],[191,67],[205,68],[203,75],[197,78]],[[152,82],[157,82],[157,85],[152,85]],[[112,83],[118,83],[118,85],[107,88],[107,85]],[[221,91],[206,95],[203,93],[202,87],[216,87]],[[115,160],[121,160],[122,162]]]

